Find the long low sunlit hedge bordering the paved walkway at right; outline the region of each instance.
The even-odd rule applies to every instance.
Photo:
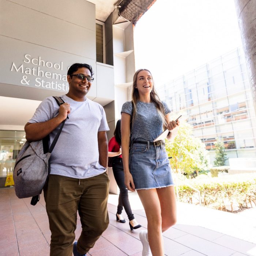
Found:
[[[199,176],[200,177],[200,176]],[[240,208],[256,206],[256,175],[233,174],[215,178],[195,178],[181,181],[178,192],[181,202],[198,204],[200,191],[202,206],[226,210],[226,201],[229,201],[233,209],[233,203],[237,202]]]

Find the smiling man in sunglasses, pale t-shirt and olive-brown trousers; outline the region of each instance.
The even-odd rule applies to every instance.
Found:
[[[50,135],[50,143],[65,121],[52,152],[51,173],[44,188],[46,211],[52,232],[50,255],[86,255],[109,224],[107,200],[109,177],[109,130],[104,109],[86,98],[93,82],[88,64],[68,69],[69,91],[60,107],[53,97],[44,99],[25,125],[28,141]],[[82,233],[74,242],[77,211]],[[74,242],[74,245],[72,245]]]

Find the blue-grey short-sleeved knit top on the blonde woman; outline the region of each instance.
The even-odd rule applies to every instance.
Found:
[[[167,104],[163,102],[165,114],[170,113]],[[159,116],[155,103],[145,103],[138,101],[136,104],[137,113],[132,126],[131,140],[143,140],[153,142],[155,138],[163,131],[163,121]],[[132,116],[132,102],[127,101],[123,104],[121,113],[125,112]]]

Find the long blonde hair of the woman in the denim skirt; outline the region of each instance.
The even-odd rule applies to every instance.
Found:
[[[138,74],[139,74],[140,71],[143,71],[143,70],[148,71],[150,73],[151,77],[152,77],[151,72],[148,69],[144,69],[144,68],[138,69],[135,72],[134,76],[133,76],[133,84],[132,84],[132,105],[133,105],[132,124],[135,120],[135,116],[136,116],[136,113],[137,113],[136,103],[139,101],[139,91],[135,87],[137,85]],[[160,99],[157,95],[157,92],[155,90],[155,83],[154,83],[153,77],[152,77],[152,81],[153,81],[153,88],[152,88],[152,91],[150,93],[150,99],[151,99],[152,102],[155,103],[155,106],[157,107],[157,111],[159,113],[159,116],[163,120],[163,127],[165,128],[166,125],[167,125],[166,120],[165,120],[165,108],[163,107],[163,103],[160,101]]]

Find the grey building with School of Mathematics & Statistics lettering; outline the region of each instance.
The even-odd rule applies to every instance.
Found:
[[[136,2],[0,0],[0,188],[12,185],[24,125],[45,97],[67,93],[73,63],[93,67],[87,97],[103,106],[113,136],[135,72],[133,26],[154,1]]]

